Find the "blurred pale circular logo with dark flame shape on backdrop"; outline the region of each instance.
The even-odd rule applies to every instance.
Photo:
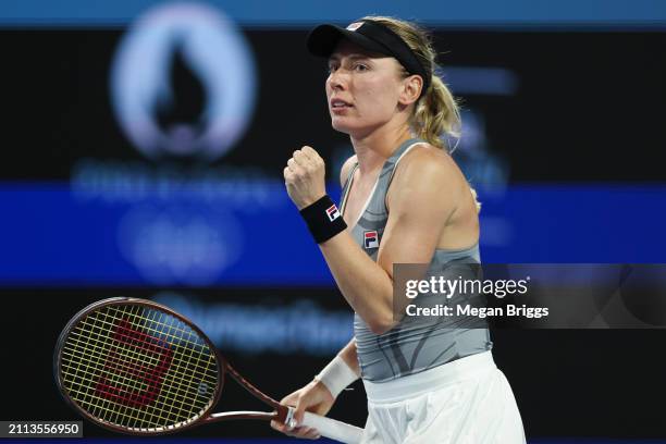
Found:
[[[220,158],[245,133],[255,90],[255,63],[243,34],[218,10],[198,3],[169,3],[139,17],[111,72],[116,119],[151,159]]]

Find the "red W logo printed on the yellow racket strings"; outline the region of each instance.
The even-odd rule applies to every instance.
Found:
[[[124,347],[121,350],[119,346],[113,346],[109,351],[104,362],[104,373],[95,386],[95,393],[122,405],[147,406],[160,394],[164,373],[171,366],[173,350],[165,341],[135,330],[125,319],[121,319],[115,325],[112,337]],[[127,353],[128,347],[131,347],[131,353]],[[157,360],[157,365],[147,366],[136,362],[141,360],[140,356],[146,356],[148,359],[143,360],[147,362]],[[110,378],[114,381],[120,380],[122,387],[112,385]],[[139,382],[141,386],[146,385],[146,388],[130,390],[128,386],[134,384],[132,382],[123,384],[122,381],[126,380]]]

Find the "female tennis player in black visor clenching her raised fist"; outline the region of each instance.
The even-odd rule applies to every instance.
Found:
[[[355,337],[283,404],[295,406],[298,421],[306,410],[325,415],[361,377],[365,443],[523,443],[486,328],[394,316],[394,263],[425,263],[431,272],[480,261],[476,195],[443,141],[458,136],[459,113],[434,75],[428,36],[407,22],[368,16],[347,28],[318,26],[307,46],[329,60],[332,126],[349,135],[355,156],[342,168],[341,210],[326,195],[324,162],[313,148],[294,152],[284,178],[355,311]]]

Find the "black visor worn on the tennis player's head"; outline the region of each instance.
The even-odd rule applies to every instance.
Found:
[[[343,38],[368,51],[395,58],[409,74],[421,76],[423,79],[421,96],[428,90],[430,86],[430,70],[423,66],[419,58],[400,36],[379,22],[363,20],[354,22],[346,28],[331,24],[319,25],[308,35],[308,51],[313,55],[328,58]]]

